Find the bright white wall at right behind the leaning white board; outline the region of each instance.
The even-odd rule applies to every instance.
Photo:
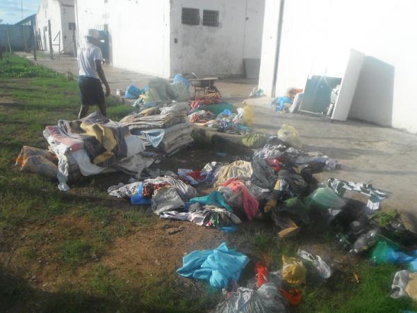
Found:
[[[277,2],[266,0],[260,87],[267,93],[275,42],[265,31],[276,29],[278,14],[269,8]],[[356,49],[367,58],[350,116],[417,133],[416,11],[414,0],[286,0],[277,93],[304,88],[309,74],[342,77]]]

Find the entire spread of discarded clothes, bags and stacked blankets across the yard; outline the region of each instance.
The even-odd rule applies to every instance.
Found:
[[[182,81],[179,84],[185,86]],[[162,81],[152,86],[154,97],[155,90],[160,98],[159,89],[168,90]],[[208,108],[218,105],[220,97],[210,95],[207,99],[210,103],[195,100],[192,109],[204,110],[193,113],[188,102],[153,99],[138,104],[138,111],[120,122],[99,112],[81,120],[59,120],[44,130],[49,150],[25,146],[16,164],[29,172],[57,177],[63,191],[69,189],[69,180],[81,175],[123,171],[133,177],[129,184],[110,186],[111,196],[149,206],[160,218],[224,232],[235,232],[243,221],[261,219],[271,220],[279,236],[288,238],[318,223],[319,218],[322,225],[338,232],[337,246],[352,255],[371,251],[376,264],[407,264],[407,270],[395,274],[391,296],[416,300],[417,250],[404,248],[391,236],[409,238],[409,232],[398,219],[384,227],[375,223],[375,212],[388,196],[384,191],[336,178],[318,182],[315,174],[336,170],[340,164],[320,152],[302,150],[294,127],[282,125],[277,136],[247,134],[253,118],[249,106],[239,108],[237,114],[221,108],[215,115],[207,113]],[[242,143],[256,149],[252,157],[231,163],[213,161],[202,169],[149,169],[154,162],[149,156],[172,154],[193,142],[187,113],[191,122],[206,118],[204,125],[208,127],[247,134]],[[367,204],[352,201],[347,197],[351,193],[366,196]],[[217,312],[289,312],[289,305],[300,303],[307,268],[324,281],[333,273],[332,266],[320,256],[300,250],[297,257],[283,256],[279,271],[269,271],[267,264],[256,262],[256,282],[238,287],[240,273],[248,263],[246,255],[222,243],[214,250],[190,252],[177,272],[224,289],[225,299]]]

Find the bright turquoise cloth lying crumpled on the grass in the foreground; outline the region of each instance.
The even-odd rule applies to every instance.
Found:
[[[211,287],[224,288],[232,278],[237,282],[249,258],[222,243],[214,250],[195,250],[183,257],[183,266],[177,273],[186,278],[209,282]]]

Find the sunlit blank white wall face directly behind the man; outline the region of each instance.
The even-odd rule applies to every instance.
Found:
[[[108,24],[113,66],[170,76],[170,0],[77,0],[76,15],[80,42]]]

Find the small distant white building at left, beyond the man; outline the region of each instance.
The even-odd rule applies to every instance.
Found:
[[[74,54],[76,24],[74,0],[42,0],[36,14],[38,36],[41,49],[50,51],[49,21],[51,22],[51,40],[54,52]],[[76,41],[76,40],[75,40]],[[75,42],[76,43],[76,42]]]

